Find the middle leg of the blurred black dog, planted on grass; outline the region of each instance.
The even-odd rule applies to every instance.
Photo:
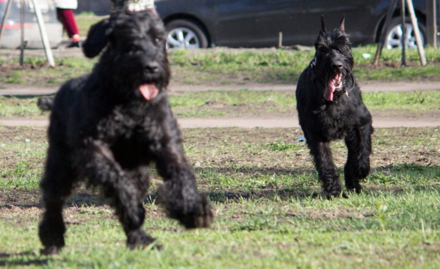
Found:
[[[145,247],[155,241],[142,229],[145,209],[136,183],[123,171],[112,151],[101,141],[88,143],[78,152],[77,165],[93,186],[100,186],[103,195],[115,208],[131,249]],[[155,247],[160,247],[155,245]]]

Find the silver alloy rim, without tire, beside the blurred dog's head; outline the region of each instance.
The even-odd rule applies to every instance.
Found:
[[[168,33],[167,49],[200,48],[200,40],[197,34],[187,27],[176,27]]]

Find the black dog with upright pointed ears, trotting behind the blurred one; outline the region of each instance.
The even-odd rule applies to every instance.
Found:
[[[348,158],[344,175],[349,190],[359,193],[359,181],[370,172],[372,118],[352,73],[353,57],[344,22],[343,18],[340,27],[327,31],[322,18],[315,58],[302,72],[296,88],[299,124],[327,197],[346,196],[330,141],[345,138]]]

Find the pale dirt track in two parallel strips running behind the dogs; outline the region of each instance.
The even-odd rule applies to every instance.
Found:
[[[361,84],[364,92],[375,91],[413,91],[413,90],[440,90],[439,82],[371,82]],[[205,91],[205,90],[276,90],[291,91],[294,85],[270,85],[270,84],[248,84],[248,85],[170,85],[170,91]],[[47,95],[57,91],[55,88],[29,88],[16,87],[0,89],[0,95]],[[376,128],[388,127],[434,127],[440,126],[440,117],[437,114],[420,114],[415,117],[411,115],[387,116],[381,113],[373,113],[373,125]],[[241,127],[241,128],[295,128],[299,127],[297,117],[235,117],[235,118],[180,118],[178,119],[181,128],[220,128],[220,127]],[[47,119],[33,120],[26,118],[0,119],[0,124],[5,126],[47,126]]]

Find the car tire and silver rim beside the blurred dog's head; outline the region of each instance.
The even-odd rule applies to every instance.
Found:
[[[194,21],[174,20],[166,24],[167,49],[208,47],[207,35],[202,26]]]

